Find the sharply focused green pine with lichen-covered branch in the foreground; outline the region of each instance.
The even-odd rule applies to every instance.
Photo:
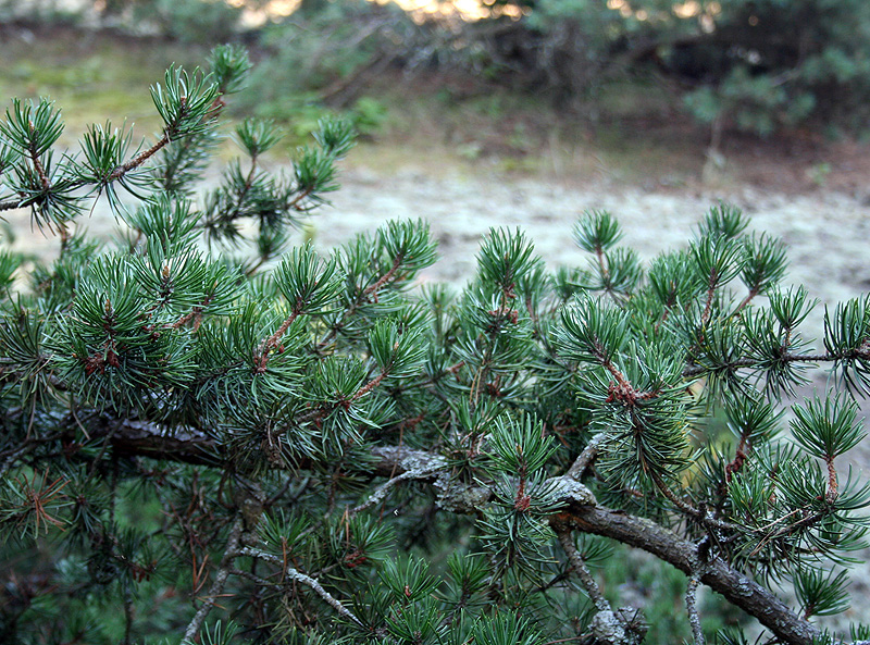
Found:
[[[352,134],[321,123],[282,176],[275,127],[245,121],[197,197],[249,66],[171,69],[150,146],[105,124],[62,152],[47,101],[0,124],[0,210],[61,239],[29,274],[0,255],[3,643],[641,643],[595,569],[621,545],[685,574],[696,645],[701,586],[768,642],[843,642],[815,618],[848,607],[863,545],[870,487],[842,463],[870,300],[815,343],[784,246],[726,204],[648,266],[607,212],[555,273],[494,230],[460,292],[417,288],[423,222],[291,247]],[[78,227],[97,199],[128,231],[107,247]],[[833,389],[785,427],[815,367]]]

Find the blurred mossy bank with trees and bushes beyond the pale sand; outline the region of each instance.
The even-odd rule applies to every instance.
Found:
[[[333,111],[550,178],[862,184],[842,145],[868,132],[862,0],[0,0],[0,97],[50,95],[74,131],[156,124],[165,66],[237,41],[258,64],[234,114],[296,137]]]

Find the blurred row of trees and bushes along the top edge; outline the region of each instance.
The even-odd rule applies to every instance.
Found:
[[[473,21],[451,14],[459,10],[450,2],[420,10],[314,0],[290,16],[273,12],[258,28],[243,23],[241,8],[268,10],[268,0],[92,4],[103,24],[135,34],[256,45],[264,65],[254,84],[272,115],[312,100],[348,108],[377,75],[400,70],[471,73],[562,109],[614,80],[654,83],[712,127],[714,145],[731,128],[769,136],[824,124],[829,135],[855,133],[868,116],[870,9],[861,0],[482,0]],[[0,20],[27,16],[75,20],[58,0],[0,0]]]

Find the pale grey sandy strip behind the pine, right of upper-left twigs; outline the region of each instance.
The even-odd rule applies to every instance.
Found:
[[[623,226],[622,244],[644,260],[685,246],[710,206],[729,201],[788,247],[788,282],[804,284],[822,302],[855,297],[870,285],[870,207],[840,193],[805,196],[745,188],[730,194],[612,189],[498,175],[433,176],[408,171],[383,176],[355,169],[343,176],[333,208],[312,220],[325,248],[394,218],[422,218],[439,243],[431,280],[462,282],[474,271],[480,239],[494,226],[520,227],[550,266],[586,261],[571,232],[586,209],[606,209]]]

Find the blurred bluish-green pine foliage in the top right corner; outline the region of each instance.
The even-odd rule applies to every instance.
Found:
[[[709,41],[728,35],[730,47],[699,44],[672,53],[672,60],[706,67],[712,83],[686,95],[685,104],[701,122],[724,120],[738,129],[767,136],[808,119],[836,119],[858,126],[849,111],[861,110],[868,92],[870,13],[862,2],[722,2],[709,12]],[[779,41],[807,42],[797,50]],[[811,44],[811,45],[810,45]]]

